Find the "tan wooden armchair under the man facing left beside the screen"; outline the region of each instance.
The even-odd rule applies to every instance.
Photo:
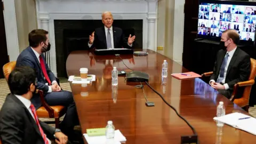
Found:
[[[202,74],[202,76],[211,76],[213,72],[208,72]],[[254,84],[254,78],[256,76],[256,60],[251,58],[251,73],[248,81],[245,82],[239,82],[234,85],[234,91],[231,95],[231,98],[229,100],[233,101],[238,105],[239,107],[242,107],[244,110],[248,112],[249,110],[249,99],[250,99],[250,93],[252,89],[252,85]],[[241,98],[236,98],[237,97],[237,90],[238,87],[244,86],[244,93]]]

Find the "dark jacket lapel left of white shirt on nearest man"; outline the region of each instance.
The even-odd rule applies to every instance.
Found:
[[[8,95],[9,97],[11,97],[12,100],[14,100],[16,103],[18,103],[18,105],[20,107],[22,107],[23,109],[25,109],[26,111],[26,116],[28,117],[29,121],[31,122],[31,124],[33,125],[33,127],[35,128],[36,132],[41,135],[40,131],[39,131],[39,128],[36,124],[36,121],[35,119],[31,116],[31,114],[29,113],[28,109],[26,108],[26,106],[18,99],[15,97],[15,95],[13,94],[10,94]]]

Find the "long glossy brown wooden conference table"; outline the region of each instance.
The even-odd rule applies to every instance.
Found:
[[[129,68],[149,74],[149,84],[194,126],[199,143],[255,143],[254,135],[228,125],[218,127],[213,121],[219,101],[224,102],[226,114],[238,111],[249,115],[246,111],[199,78],[175,79],[170,74],[188,70],[162,54],[144,51],[148,51],[148,56],[121,57]],[[169,63],[168,77],[164,82],[161,78],[163,60]],[[69,76],[79,75],[79,68],[82,67],[88,68],[89,74],[96,75],[96,81],[86,87],[70,83],[83,133],[86,129],[105,127],[107,121],[112,120],[116,130],[126,137],[126,144],[180,143],[181,135],[193,134],[190,127],[145,83],[142,83],[145,94],[148,101],[155,103],[155,107],[145,105],[142,89],[134,87],[140,83],[126,84],[125,78],[119,77],[117,89],[112,87],[111,63],[118,70],[129,71],[118,57],[111,55],[74,51],[68,56],[66,69]],[[87,143],[86,140],[84,142]]]

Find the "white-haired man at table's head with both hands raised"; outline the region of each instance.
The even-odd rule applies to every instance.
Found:
[[[113,15],[110,12],[104,12],[101,15],[104,27],[97,28],[90,36],[88,43],[89,48],[96,49],[114,49],[114,48],[131,48],[135,36],[129,36],[128,41],[125,41],[123,30],[113,27]]]

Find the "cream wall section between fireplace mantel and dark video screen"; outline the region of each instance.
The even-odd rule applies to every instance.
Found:
[[[159,0],[157,22],[157,51],[182,65],[185,0]]]

